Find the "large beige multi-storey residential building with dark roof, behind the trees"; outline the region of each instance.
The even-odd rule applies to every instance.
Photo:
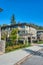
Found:
[[[28,43],[31,40],[35,41],[37,39],[37,30],[26,23],[2,26],[1,30],[8,31],[8,37],[9,37],[12,28],[18,28],[19,31],[17,34],[20,37],[19,40],[23,41],[24,43],[25,41],[27,41]]]

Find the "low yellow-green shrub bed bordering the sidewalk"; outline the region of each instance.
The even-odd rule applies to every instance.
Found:
[[[7,46],[7,48],[5,50],[6,50],[6,52],[10,52],[10,51],[18,50],[21,48],[29,47],[29,46],[30,46],[30,44],[24,45],[24,44],[19,43],[19,45]]]

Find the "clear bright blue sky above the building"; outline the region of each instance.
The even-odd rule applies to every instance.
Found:
[[[43,26],[43,0],[0,0],[0,24],[10,24],[12,14],[16,21]]]

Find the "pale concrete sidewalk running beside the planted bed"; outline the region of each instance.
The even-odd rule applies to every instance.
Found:
[[[32,51],[38,51],[41,49],[39,46],[32,46],[25,48],[26,50],[32,50]],[[26,52],[25,49],[16,50],[10,53],[6,53],[3,55],[0,55],[0,65],[14,65],[24,57],[30,55],[29,52]]]

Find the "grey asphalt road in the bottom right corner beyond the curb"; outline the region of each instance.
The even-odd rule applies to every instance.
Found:
[[[43,50],[33,52],[32,57],[28,58],[21,65],[43,65]]]

